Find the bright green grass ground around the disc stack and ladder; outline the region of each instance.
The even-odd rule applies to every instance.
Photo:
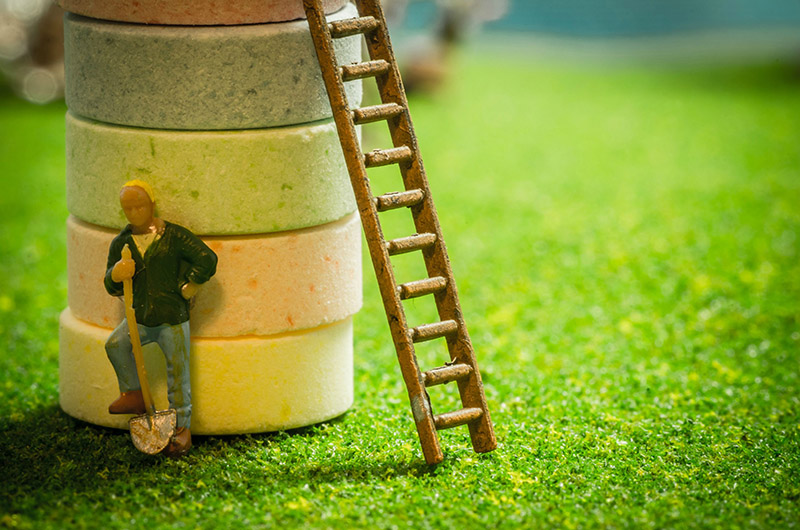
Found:
[[[0,525],[798,525],[797,77],[470,55],[411,110],[497,451],[422,463],[366,255],[341,419],[171,461],[64,415],[64,107],[3,95]]]

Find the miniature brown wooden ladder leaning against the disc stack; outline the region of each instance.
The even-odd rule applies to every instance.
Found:
[[[428,464],[441,462],[444,457],[436,431],[464,424],[469,426],[475,451],[488,452],[497,447],[497,441],[386,21],[379,0],[356,0],[355,3],[358,17],[328,24],[321,0],[303,0],[397,358],[408,388],[422,452]],[[359,34],[366,40],[370,60],[339,66],[332,39]],[[351,111],[344,83],[367,77],[375,78],[382,103]],[[380,120],[386,120],[394,147],[362,153],[355,126]],[[399,165],[405,190],[373,197],[367,168],[388,164]],[[386,241],[378,213],[403,207],[410,209],[417,233]],[[422,252],[428,278],[397,285],[389,258],[414,251]],[[409,328],[402,300],[424,295],[434,296],[440,322]],[[439,337],[446,338],[451,361],[439,368],[420,371],[414,343]],[[458,382],[463,408],[434,415],[426,388],[451,381]]]

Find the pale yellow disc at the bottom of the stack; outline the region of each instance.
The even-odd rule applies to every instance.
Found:
[[[128,415],[111,415],[119,395],[105,353],[110,329],[76,319],[60,321],[60,402],[80,420],[120,429]],[[144,347],[156,408],[168,407],[164,357]],[[352,319],[270,336],[193,338],[192,433],[239,434],[292,429],[339,416],[353,403]]]

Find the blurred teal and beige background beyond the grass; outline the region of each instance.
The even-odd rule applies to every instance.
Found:
[[[385,0],[410,91],[435,90],[459,45],[558,60],[800,64],[793,0]],[[0,0],[0,71],[34,103],[63,97],[62,11]]]

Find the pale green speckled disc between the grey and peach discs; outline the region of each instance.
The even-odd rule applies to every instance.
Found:
[[[120,229],[123,184],[146,181],[157,214],[198,235],[306,228],[355,211],[332,120],[241,131],[122,127],[67,113],[67,208]]]

